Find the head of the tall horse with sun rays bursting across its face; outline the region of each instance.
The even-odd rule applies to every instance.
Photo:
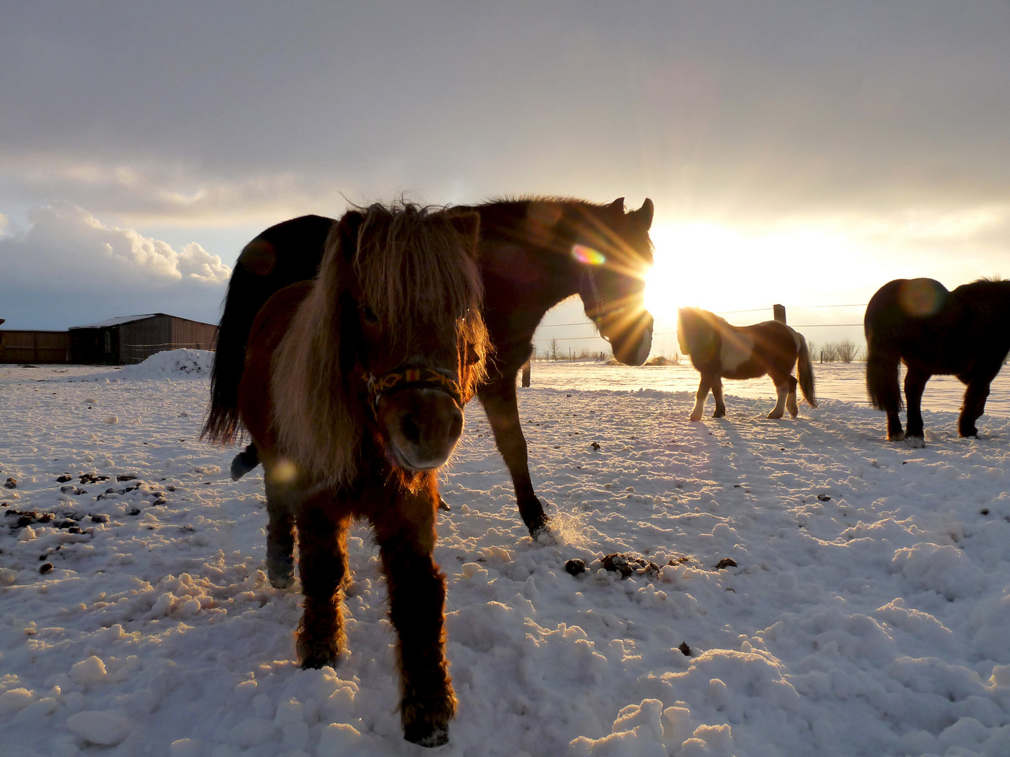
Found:
[[[586,315],[610,342],[614,357],[627,365],[645,362],[652,346],[652,316],[645,310],[651,225],[651,200],[625,213],[621,197],[582,219],[572,248]]]

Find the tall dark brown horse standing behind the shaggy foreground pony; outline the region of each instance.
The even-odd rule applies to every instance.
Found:
[[[652,317],[643,305],[645,274],[652,263],[652,203],[646,199],[638,210],[625,212],[624,198],[609,205],[529,198],[452,210],[474,212],[481,219],[484,321],[492,351],[478,398],[511,473],[523,523],[535,538],[548,529],[548,518],[529,476],[516,373],[529,358],[533,332],[543,315],[572,295],[581,296],[586,315],[618,360],[629,365],[645,361],[652,338]],[[285,221],[242,250],[221,316],[205,434],[221,441],[234,438],[235,388],[252,318],[274,292],[315,276],[332,223],[320,216]],[[232,474],[237,477],[251,469],[257,459],[256,448],[247,448],[235,458]]]

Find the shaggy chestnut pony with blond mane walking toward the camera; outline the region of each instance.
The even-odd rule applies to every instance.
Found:
[[[292,580],[297,534],[302,667],[334,665],[344,646],[347,528],[367,518],[399,637],[404,738],[429,747],[447,741],[456,710],[445,577],[432,557],[435,470],[460,437],[488,347],[478,229],[475,213],[348,212],[327,234],[316,278],[260,308],[237,387],[264,465],[275,586]],[[219,345],[235,350],[225,343],[234,336]]]

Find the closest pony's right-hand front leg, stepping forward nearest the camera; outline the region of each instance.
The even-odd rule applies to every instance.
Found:
[[[429,490],[404,493],[374,516],[389,594],[389,615],[399,636],[400,718],[403,738],[424,747],[448,741],[456,694],[445,658],[445,576],[434,561],[433,478]]]

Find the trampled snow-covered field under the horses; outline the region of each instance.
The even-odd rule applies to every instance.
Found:
[[[295,664],[262,474],[232,482],[233,450],[198,440],[206,358],[0,366],[0,753],[427,753],[402,739],[365,527],[340,664]],[[862,365],[815,370],[797,421],[764,418],[759,380],[691,424],[685,366],[535,363],[520,410],[553,544],[470,408],[436,553],[460,707],[433,753],[1010,755],[1006,376],[978,440],[958,385],[931,384],[911,450]],[[622,579],[615,552],[645,567]]]

